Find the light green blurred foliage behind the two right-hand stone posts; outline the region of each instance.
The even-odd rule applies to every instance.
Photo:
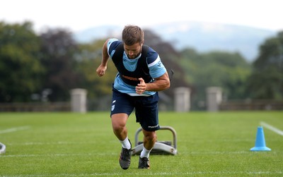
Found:
[[[194,49],[185,49],[182,56],[187,82],[193,85],[192,109],[204,109],[207,87],[221,87],[226,99],[246,97],[250,64],[240,54],[224,51],[198,54]]]

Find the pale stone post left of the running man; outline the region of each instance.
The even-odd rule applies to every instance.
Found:
[[[73,112],[86,112],[86,94],[85,89],[71,90],[71,111]]]

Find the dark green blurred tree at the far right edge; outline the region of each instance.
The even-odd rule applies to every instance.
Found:
[[[283,99],[283,32],[260,45],[260,54],[248,79],[248,91],[253,99]]]

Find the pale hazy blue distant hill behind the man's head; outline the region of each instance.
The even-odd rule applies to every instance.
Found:
[[[88,28],[74,33],[74,39],[85,43],[106,37],[120,37],[122,28],[123,26],[117,25]],[[164,41],[172,42],[177,50],[191,47],[199,52],[238,51],[247,61],[253,61],[258,56],[258,47],[265,39],[277,35],[276,31],[260,28],[191,21],[141,28],[152,30]]]

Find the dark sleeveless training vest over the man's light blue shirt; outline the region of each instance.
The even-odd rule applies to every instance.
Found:
[[[141,57],[137,61],[137,68],[135,71],[128,71],[123,64],[123,54],[124,54],[124,43],[121,42],[115,49],[115,53],[112,56],[112,61],[115,64],[120,78],[124,83],[128,85],[137,86],[140,83],[139,78],[143,78],[145,83],[151,82],[153,80],[149,75],[149,67],[146,63],[146,56],[149,47],[146,45],[142,46]]]

